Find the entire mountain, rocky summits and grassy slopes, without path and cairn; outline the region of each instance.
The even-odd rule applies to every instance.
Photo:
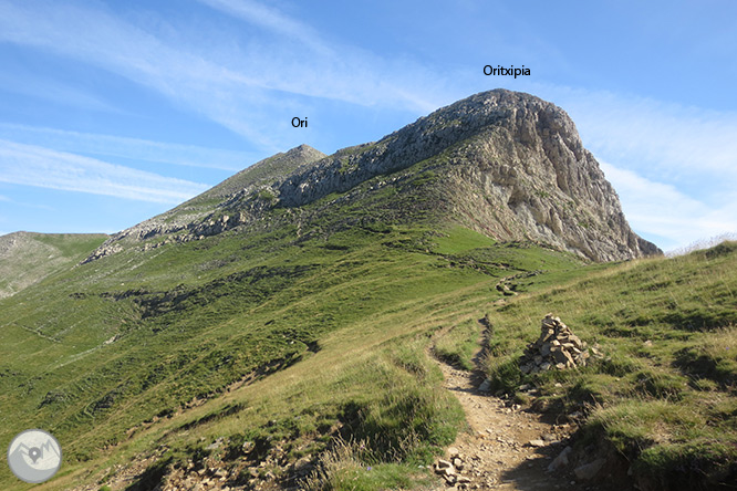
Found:
[[[734,476],[737,248],[660,255],[537,97],[301,146],[97,240],[0,299],[0,439],[64,455],[39,489],[430,487],[465,422],[428,353],[474,366],[484,328],[484,376],[579,428],[571,462],[613,449],[612,482],[648,490]],[[550,310],[604,358],[521,373]]]

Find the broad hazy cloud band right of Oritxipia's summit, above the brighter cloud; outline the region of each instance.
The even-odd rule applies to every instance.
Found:
[[[645,97],[557,87],[584,145],[610,161],[673,181],[718,176],[737,184],[737,113]]]

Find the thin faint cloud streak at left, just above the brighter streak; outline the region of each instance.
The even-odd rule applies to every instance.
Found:
[[[123,157],[229,171],[241,170],[258,159],[256,154],[245,152],[3,123],[0,123],[0,138],[17,143],[33,143],[45,148],[74,154]]]

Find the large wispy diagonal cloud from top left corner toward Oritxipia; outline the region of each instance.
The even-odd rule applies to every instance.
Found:
[[[256,1],[204,0],[269,34],[207,28],[145,28],[90,8],[48,0],[0,0],[0,40],[42,49],[123,75],[247,137],[263,150],[283,150],[289,122],[312,98],[426,112],[438,97],[433,80],[406,60],[384,60],[359,48],[332,46],[319,33]],[[154,32],[150,25],[159,25]],[[162,27],[163,25],[163,27]],[[289,31],[289,35],[284,33]],[[196,33],[196,34],[194,34]],[[196,39],[193,39],[196,38]]]

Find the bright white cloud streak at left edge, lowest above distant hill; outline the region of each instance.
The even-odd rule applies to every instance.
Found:
[[[179,203],[207,189],[198,182],[8,140],[0,140],[0,181],[162,203]]]

